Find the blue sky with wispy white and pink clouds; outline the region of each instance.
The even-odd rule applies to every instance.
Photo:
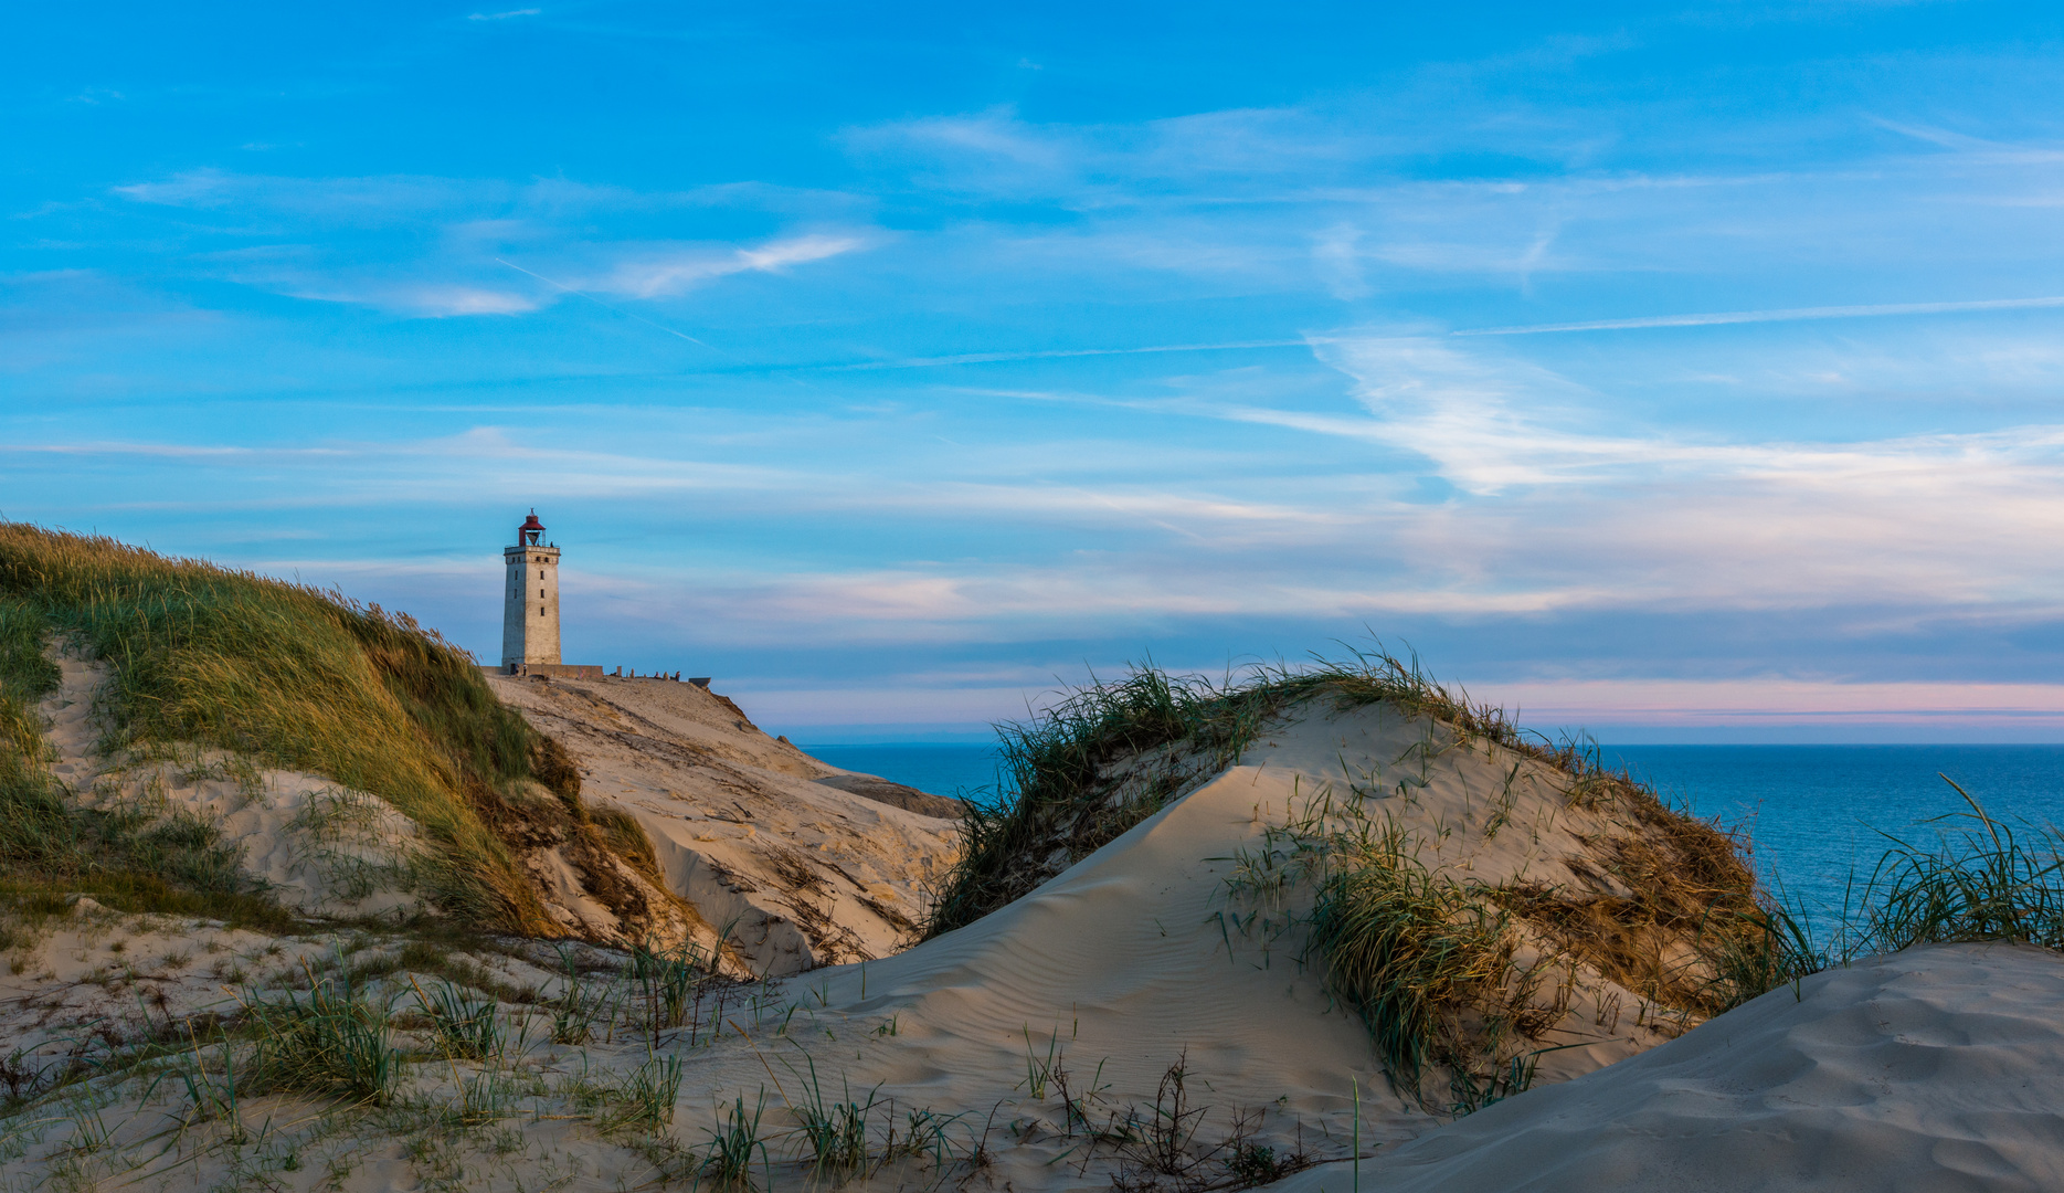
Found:
[[[502,0],[504,4],[522,0]],[[0,518],[799,741],[2064,741],[2064,10],[19,6]]]

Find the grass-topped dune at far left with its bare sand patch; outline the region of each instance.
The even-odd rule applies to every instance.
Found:
[[[714,943],[566,751],[405,615],[0,524],[0,859],[126,910]]]

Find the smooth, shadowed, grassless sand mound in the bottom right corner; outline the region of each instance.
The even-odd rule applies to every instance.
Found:
[[[1926,945],[1362,1162],[1397,1193],[2064,1189],[2064,958]],[[1286,1193],[1342,1193],[1346,1164]]]

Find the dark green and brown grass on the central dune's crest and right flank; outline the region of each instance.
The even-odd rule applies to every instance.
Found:
[[[1567,881],[1490,881],[1482,869],[1445,869],[1437,844],[1391,819],[1416,799],[1412,786],[1393,795],[1370,776],[1315,791],[1259,850],[1243,852],[1232,894],[1288,912],[1280,931],[1300,931],[1300,960],[1368,1026],[1399,1090],[1451,1113],[1525,1088],[1534,1059],[1550,1051],[1544,1030],[1585,982],[1622,989],[1645,1007],[1639,1015],[1684,1030],[1792,972],[1781,908],[1756,888],[1742,840],[1606,770],[1583,741],[1525,735],[1503,710],[1381,650],[1226,681],[1146,667],[999,727],[1005,799],[968,811],[966,848],[933,892],[929,935],[1030,894],[1278,727],[1379,704],[1426,727],[1408,757],[1476,757],[1480,774],[1505,776],[1503,811],[1470,830],[1484,848],[1511,815],[1521,774],[1529,791],[1550,793],[1552,809],[1529,807],[1587,826],[1556,846],[1552,865]],[[1288,888],[1302,888],[1309,906],[1278,906]],[[1424,1090],[1434,1071],[1449,1075],[1449,1094]]]

